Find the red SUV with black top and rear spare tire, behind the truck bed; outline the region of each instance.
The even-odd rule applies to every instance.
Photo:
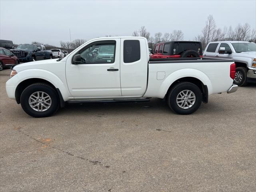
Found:
[[[203,57],[199,41],[168,41],[155,45],[151,58]]]

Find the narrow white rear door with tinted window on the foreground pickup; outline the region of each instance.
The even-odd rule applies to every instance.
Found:
[[[122,96],[143,96],[148,78],[148,48],[144,38],[121,38]]]

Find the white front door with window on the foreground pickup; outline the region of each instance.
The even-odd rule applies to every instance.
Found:
[[[75,99],[114,98],[121,95],[120,38],[102,39],[81,48],[82,62],[66,60],[66,80]]]

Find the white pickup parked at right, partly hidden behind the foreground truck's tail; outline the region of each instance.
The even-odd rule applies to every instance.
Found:
[[[256,43],[247,41],[210,42],[204,51],[207,58],[233,59],[236,64],[234,83],[246,86],[256,82]]]

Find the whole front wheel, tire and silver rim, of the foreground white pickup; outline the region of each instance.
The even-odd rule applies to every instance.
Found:
[[[32,117],[48,117],[59,108],[58,93],[48,84],[35,83],[24,89],[20,104]]]

